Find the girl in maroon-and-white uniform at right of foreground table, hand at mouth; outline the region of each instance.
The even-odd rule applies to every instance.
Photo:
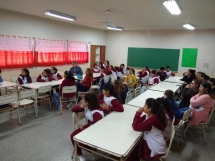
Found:
[[[143,112],[146,114],[141,117]],[[163,131],[166,126],[167,119],[163,106],[155,99],[148,98],[144,107],[136,112],[132,124],[135,131],[144,132],[143,141],[138,147],[142,159],[156,160],[165,154],[166,140]]]

